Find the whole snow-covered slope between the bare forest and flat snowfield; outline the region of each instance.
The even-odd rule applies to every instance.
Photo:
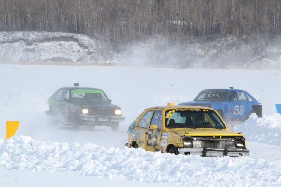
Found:
[[[281,69],[281,47],[278,41],[247,46],[235,37],[171,46],[159,36],[117,53],[107,42],[81,34],[13,31],[0,32],[0,63]]]

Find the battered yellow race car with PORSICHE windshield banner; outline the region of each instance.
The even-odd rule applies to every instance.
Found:
[[[244,134],[229,130],[217,111],[198,106],[145,109],[128,128],[129,148],[183,155],[249,156]]]

